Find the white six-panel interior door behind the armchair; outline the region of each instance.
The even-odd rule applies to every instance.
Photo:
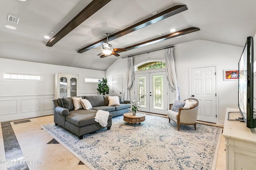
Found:
[[[216,67],[191,69],[191,95],[199,101],[197,120],[216,123]]]

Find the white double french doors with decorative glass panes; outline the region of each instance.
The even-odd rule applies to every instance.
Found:
[[[167,115],[166,72],[135,74],[135,98],[145,95],[138,111]]]

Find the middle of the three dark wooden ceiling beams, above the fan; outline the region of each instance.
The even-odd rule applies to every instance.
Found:
[[[178,14],[180,12],[183,12],[185,10],[187,10],[187,6],[186,5],[176,5],[176,6],[173,6],[172,8],[169,8],[159,14],[156,14],[150,18],[147,18],[146,20],[143,20],[143,21],[140,21],[139,23],[136,23],[126,29],[123,29],[117,33],[114,33],[113,35],[110,35],[108,37],[108,41],[111,41],[113,39],[116,39],[118,37],[121,37],[123,35],[126,35],[128,33],[131,33],[133,31],[136,31],[138,29],[141,29],[143,27],[146,27],[150,24],[153,24],[153,23],[156,23],[158,21],[161,21],[161,20],[164,20],[165,18],[168,18],[170,16],[174,16],[175,14]],[[101,45],[102,43],[106,43],[107,41],[107,38],[104,38],[104,39],[101,39],[95,43],[92,43],[91,45],[88,45],[80,50],[78,50],[78,53],[84,53],[85,51],[88,51],[89,49],[88,48],[95,48],[95,47],[98,47],[99,45]]]

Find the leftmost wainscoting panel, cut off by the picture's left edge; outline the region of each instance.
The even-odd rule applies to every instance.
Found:
[[[13,114],[18,111],[18,100],[0,100],[0,115]]]

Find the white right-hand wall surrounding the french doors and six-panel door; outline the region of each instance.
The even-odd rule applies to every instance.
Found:
[[[246,41],[246,40],[245,40]],[[238,61],[243,47],[215,43],[211,41],[196,40],[175,45],[174,56],[176,63],[176,74],[180,86],[180,98],[184,100],[189,96],[189,68],[198,66],[217,65],[217,98],[219,124],[224,123],[226,107],[237,108],[238,106],[238,81],[224,81],[223,70],[238,69]],[[134,56],[134,65],[152,60],[164,60],[164,50],[154,51],[149,54]],[[126,72],[126,61],[118,59],[106,71],[107,77],[117,72]],[[124,74],[125,75],[125,74]],[[123,76],[123,88],[125,79]],[[111,86],[112,87],[112,86]],[[110,90],[111,90],[110,87]],[[131,98],[134,98],[134,86],[131,88]],[[133,96],[132,96],[133,95]],[[169,100],[172,102],[172,93]]]

